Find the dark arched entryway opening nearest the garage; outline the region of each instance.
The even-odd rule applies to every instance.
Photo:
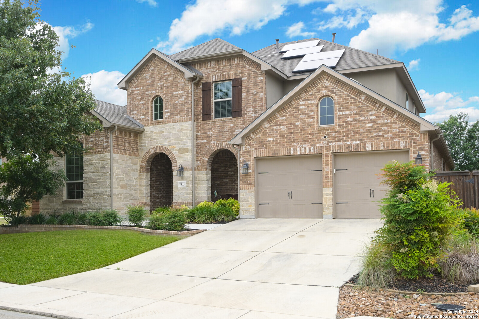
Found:
[[[211,161],[211,200],[238,199],[238,161],[228,149],[220,149]],[[215,191],[217,196],[215,197]]]

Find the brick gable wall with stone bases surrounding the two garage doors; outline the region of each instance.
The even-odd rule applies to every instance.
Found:
[[[335,124],[318,125],[318,104],[324,96],[335,103]],[[327,138],[324,138],[327,136]],[[410,149],[429,165],[429,136],[420,126],[364,93],[323,73],[263,125],[245,138],[240,157],[250,165],[241,174],[241,215],[255,215],[254,158],[322,154],[323,216],[333,216],[332,154],[351,151]]]

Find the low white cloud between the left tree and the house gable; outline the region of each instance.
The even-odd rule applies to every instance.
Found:
[[[126,105],[126,91],[118,89],[116,84],[125,77],[120,71],[101,70],[81,76],[90,82],[90,89],[98,100]]]

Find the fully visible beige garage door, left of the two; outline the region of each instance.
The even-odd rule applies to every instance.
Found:
[[[322,217],[321,155],[256,160],[260,218]]]

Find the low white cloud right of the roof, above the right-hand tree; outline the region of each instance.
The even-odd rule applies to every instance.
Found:
[[[419,90],[419,95],[427,109],[424,118],[430,122],[442,122],[450,114],[459,112],[468,114],[471,121],[479,119],[479,96],[471,96],[464,100],[457,93],[443,91],[433,94],[425,90]]]

